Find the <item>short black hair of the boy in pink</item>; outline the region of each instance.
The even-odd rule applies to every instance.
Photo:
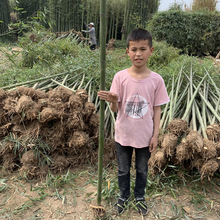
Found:
[[[129,48],[130,41],[148,40],[150,48],[152,47],[152,35],[149,31],[143,28],[137,28],[130,32],[127,37],[127,48]]]

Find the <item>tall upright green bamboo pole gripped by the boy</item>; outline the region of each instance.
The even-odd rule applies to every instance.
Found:
[[[100,0],[100,64],[101,80],[100,89],[105,90],[105,72],[106,72],[106,0]],[[102,168],[104,152],[104,112],[105,101],[100,101],[100,121],[99,121],[99,161],[98,161],[98,193],[97,204],[101,205],[102,192]]]

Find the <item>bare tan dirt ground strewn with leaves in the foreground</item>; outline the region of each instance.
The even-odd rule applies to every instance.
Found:
[[[81,170],[80,172],[77,170]],[[84,171],[83,171],[84,170]],[[25,180],[16,173],[3,172],[0,178],[0,219],[96,219],[90,204],[96,204],[97,176],[84,175],[91,167],[74,169],[74,185],[49,187],[47,180]],[[91,179],[93,181],[90,181]],[[51,180],[53,183],[59,180]],[[215,184],[213,184],[215,183]],[[174,186],[173,192],[155,193],[146,197],[149,212],[140,216],[131,202],[130,208],[116,216],[111,204],[102,200],[106,215],[100,219],[156,220],[156,219],[220,219],[220,179],[210,182]],[[218,185],[219,184],[219,185]],[[110,189],[109,189],[110,190]],[[165,189],[164,189],[165,190]],[[112,201],[115,202],[115,201]]]

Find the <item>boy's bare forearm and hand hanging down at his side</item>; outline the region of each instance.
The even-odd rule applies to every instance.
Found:
[[[149,151],[153,152],[157,148],[157,138],[159,136],[159,126],[160,126],[160,117],[161,117],[161,106],[154,106],[154,132],[153,132],[153,137],[151,138],[150,141],[150,147]]]

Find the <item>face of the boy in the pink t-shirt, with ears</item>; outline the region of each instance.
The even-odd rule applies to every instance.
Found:
[[[129,48],[126,49],[132,64],[135,67],[146,66],[149,56],[153,53],[154,48],[150,47],[148,40],[130,41]]]

